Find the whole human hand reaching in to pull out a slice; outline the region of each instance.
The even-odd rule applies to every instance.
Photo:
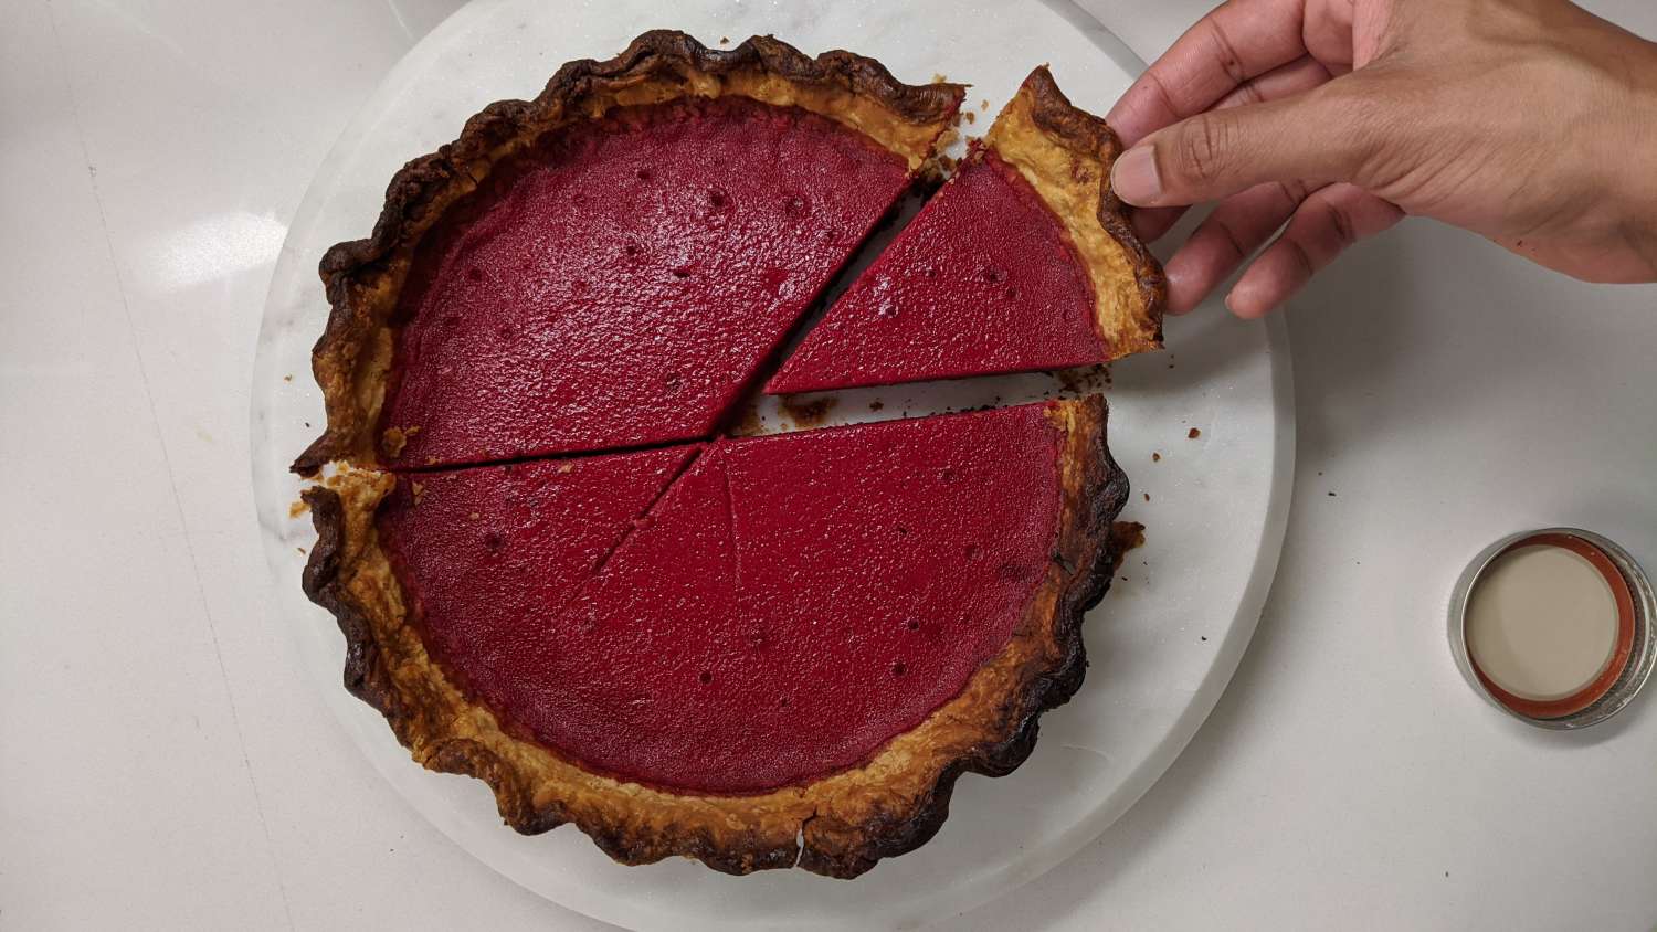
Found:
[[[1564,0],[1229,0],[1107,121],[1183,313],[1278,227],[1226,305],[1256,318],[1407,214],[1589,281],[1657,280],[1657,43]]]

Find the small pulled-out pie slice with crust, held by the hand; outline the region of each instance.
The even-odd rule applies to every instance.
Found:
[[[1162,346],[1163,278],[1110,192],[1120,144],[1047,68],[766,386],[1109,363]]]

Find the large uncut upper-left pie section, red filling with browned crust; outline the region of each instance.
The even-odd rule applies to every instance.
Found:
[[[295,470],[708,435],[961,96],[845,51],[653,31],[489,106],[323,257],[328,429]]]

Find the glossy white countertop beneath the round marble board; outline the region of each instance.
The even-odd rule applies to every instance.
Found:
[[[0,929],[601,927],[388,791],[307,689],[252,518],[287,222],[454,5],[0,8]],[[1205,8],[1084,5],[1145,58]],[[1591,7],[1657,35],[1644,0]],[[951,925],[1649,929],[1657,700],[1526,728],[1443,611],[1511,530],[1657,568],[1657,288],[1410,220],[1289,333],[1294,508],[1236,679],[1120,823]]]

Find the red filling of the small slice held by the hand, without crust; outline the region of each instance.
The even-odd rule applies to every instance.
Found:
[[[1036,190],[979,149],[842,296],[767,392],[1060,369],[1105,358],[1094,290]]]

